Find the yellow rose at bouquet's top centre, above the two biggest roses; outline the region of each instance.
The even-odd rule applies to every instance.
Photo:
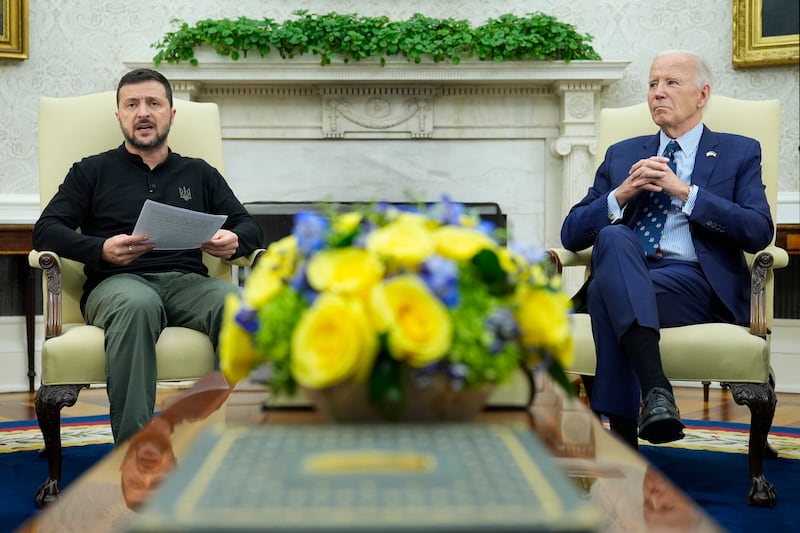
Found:
[[[383,277],[383,264],[361,248],[337,248],[317,253],[308,263],[307,276],[320,292],[366,298]]]

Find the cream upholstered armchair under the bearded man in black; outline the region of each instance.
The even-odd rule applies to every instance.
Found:
[[[176,99],[170,147],[187,156],[201,157],[224,174],[219,110],[216,104]],[[48,203],[72,163],[119,146],[122,133],[114,117],[113,91],[74,98],[39,101],[39,196]],[[250,258],[236,261],[247,266]],[[231,263],[205,255],[209,273],[231,280]],[[34,250],[29,263],[43,270],[45,340],[42,344],[41,386],[34,399],[36,417],[48,459],[47,480],[36,491],[43,506],[59,495],[61,481],[61,409],[72,406],[81,389],[105,384],[103,331],[87,325],[79,302],[84,282],[83,265],[53,252]],[[158,379],[185,381],[200,378],[214,368],[209,338],[197,331],[166,328],[156,345]]]

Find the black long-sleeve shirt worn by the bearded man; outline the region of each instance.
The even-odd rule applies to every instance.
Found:
[[[81,306],[94,287],[114,274],[178,271],[208,275],[199,248],[155,249],[129,265],[102,259],[103,242],[114,235],[131,234],[147,199],[227,215],[223,229],[239,237],[234,257],[249,255],[263,242],[260,226],[214,167],[170,151],[167,159],[151,170],[120,145],[75,163],[33,229],[35,249],[84,263],[87,279]]]

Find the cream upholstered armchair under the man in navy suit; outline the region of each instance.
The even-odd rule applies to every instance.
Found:
[[[715,131],[738,133],[761,142],[763,181],[772,208],[777,205],[778,150],[780,134],[780,101],[745,101],[712,96],[706,107],[704,122]],[[656,132],[647,104],[600,113],[597,140],[597,164],[608,146],[616,141]],[[588,267],[591,250],[573,253],[551,250],[557,268]],[[750,326],[732,324],[699,324],[661,330],[660,349],[664,370],[670,380],[704,384],[708,400],[708,384],[720,382],[730,388],[733,399],[747,405],[751,413],[749,469],[750,491],[747,503],[773,507],[777,496],[773,485],[764,477],[763,460],[774,456],[767,444],[767,434],[775,414],[774,378],[770,368],[770,327],[773,311],[774,268],[788,264],[785,250],[774,246],[748,256],[751,265]],[[571,372],[593,376],[595,351],[587,314],[574,316],[575,363]]]

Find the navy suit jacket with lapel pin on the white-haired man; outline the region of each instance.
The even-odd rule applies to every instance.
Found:
[[[572,207],[561,228],[565,248],[578,251],[592,246],[597,233],[612,222],[607,196],[618,187],[631,166],[655,155],[659,135],[635,137],[609,147],[597,169],[594,184]],[[750,274],[743,251],[755,253],[770,242],[774,226],[761,181],[761,145],[741,135],[703,128],[697,149],[692,185],[699,190],[689,226],[703,272],[722,302],[731,322],[750,321]],[[621,222],[633,227],[645,195],[625,207]]]

